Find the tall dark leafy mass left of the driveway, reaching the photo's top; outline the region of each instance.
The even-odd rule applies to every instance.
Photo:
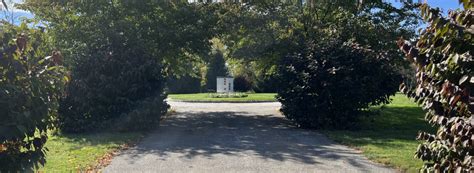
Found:
[[[149,123],[160,120],[168,109],[164,53],[157,53],[163,49],[153,44],[158,42],[151,39],[155,33],[143,30],[151,21],[135,11],[151,9],[127,1],[113,6],[102,1],[95,6],[85,2],[59,4],[57,8],[70,10],[63,12],[83,14],[79,18],[58,14],[52,14],[54,19],[45,17],[51,20],[56,38],[68,39],[59,42],[69,50],[66,58],[71,82],[60,102],[58,127],[63,132],[153,127]],[[61,17],[65,19],[56,21]],[[61,22],[71,24],[66,27]],[[153,110],[158,111],[151,113]]]

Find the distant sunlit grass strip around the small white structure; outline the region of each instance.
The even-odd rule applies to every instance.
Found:
[[[168,98],[177,101],[200,101],[200,102],[258,102],[276,101],[275,93],[249,93],[248,97],[242,98],[211,98],[209,93],[198,94],[170,94]]]

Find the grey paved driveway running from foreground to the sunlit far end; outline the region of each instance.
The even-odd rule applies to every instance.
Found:
[[[104,172],[394,172],[291,125],[279,103],[170,102],[165,119]]]

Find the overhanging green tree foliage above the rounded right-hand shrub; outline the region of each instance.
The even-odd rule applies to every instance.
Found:
[[[231,57],[265,61],[274,66],[279,59],[306,44],[305,40],[340,37],[391,52],[398,61],[402,55],[394,46],[400,35],[411,38],[419,18],[413,6],[397,9],[382,0],[359,1],[250,1],[245,5],[224,4],[222,16],[232,32],[222,40]],[[235,18],[242,20],[234,21]],[[224,22],[223,22],[224,23]],[[269,67],[267,67],[269,68]]]

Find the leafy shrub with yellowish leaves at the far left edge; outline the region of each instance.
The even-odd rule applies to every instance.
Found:
[[[44,165],[47,130],[66,81],[44,33],[0,23],[0,172]]]

